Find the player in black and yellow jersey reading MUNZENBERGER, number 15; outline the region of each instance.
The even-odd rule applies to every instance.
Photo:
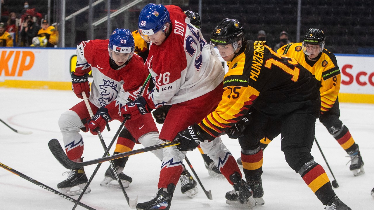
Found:
[[[212,54],[221,56],[229,67],[222,101],[199,124],[178,133],[182,140],[178,148],[186,151],[201,142],[214,142],[252,108],[253,126],[244,130],[244,136],[251,138],[239,138],[243,162],[252,169],[262,165],[261,130],[269,121],[278,121],[281,148],[289,166],[301,175],[326,210],[350,210],[335,195],[325,170],[310,154],[321,105],[312,73],[294,58],[276,54],[264,41],[246,40],[243,25],[235,19],[223,19],[214,28],[210,45]],[[253,197],[263,193],[262,185],[258,185],[261,173],[244,173]],[[235,194],[226,198],[238,200]]]

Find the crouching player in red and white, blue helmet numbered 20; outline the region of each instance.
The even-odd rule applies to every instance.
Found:
[[[90,121],[91,116],[82,101],[61,115],[59,127],[67,156],[71,160],[82,161],[83,138],[79,130],[84,132],[90,130],[97,135],[96,129],[102,132],[108,121],[123,121],[120,108],[135,99],[149,74],[140,56],[133,53],[134,38],[127,29],[114,30],[109,40],[83,41],[77,46],[76,70],[71,74],[72,88],[78,98],[82,98],[82,92],[85,92],[86,96],[89,96],[93,113],[97,112]],[[92,71],[93,77],[91,89],[87,78],[89,71]],[[114,154],[131,151],[135,142],[142,143],[144,146],[163,142],[158,138],[158,130],[151,114],[143,115],[136,121],[126,121],[125,129],[119,134]],[[162,160],[162,150],[156,150],[154,154]],[[128,157],[114,160],[117,173],[125,188],[132,182],[131,177],[122,172],[127,160]],[[188,174],[188,172],[184,173]],[[116,179],[112,170],[108,168],[105,179],[100,185],[119,188],[118,184],[110,183],[112,180]],[[87,181],[83,168],[80,168],[71,170],[68,178],[57,186],[60,191],[76,195],[80,194]],[[71,191],[74,186],[80,189]],[[181,188],[188,191],[195,186],[196,182],[188,179]],[[86,192],[89,191],[88,189]]]

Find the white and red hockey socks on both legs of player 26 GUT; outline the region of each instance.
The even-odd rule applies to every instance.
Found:
[[[211,142],[204,141],[200,144],[203,152],[210,157],[218,166],[221,173],[233,185],[230,180],[230,175],[238,172],[239,167],[236,164],[235,158],[232,156],[229,149],[222,143],[220,137],[215,138]],[[183,171],[183,159],[187,152],[181,152],[176,146],[169,146],[163,148],[163,159],[160,172],[160,179],[158,188],[167,188],[170,183],[177,185],[179,176]]]

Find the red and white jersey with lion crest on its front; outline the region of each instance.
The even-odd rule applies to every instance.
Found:
[[[123,105],[134,101],[149,72],[137,54],[118,69],[111,68],[108,43],[108,39],[82,41],[77,46],[75,72],[83,75],[92,71],[89,100],[97,107],[105,106],[110,116],[114,116],[120,115]]]

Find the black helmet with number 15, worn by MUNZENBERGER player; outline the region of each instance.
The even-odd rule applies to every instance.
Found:
[[[215,45],[232,44],[244,40],[243,24],[236,19],[223,19],[213,30],[211,43]]]

